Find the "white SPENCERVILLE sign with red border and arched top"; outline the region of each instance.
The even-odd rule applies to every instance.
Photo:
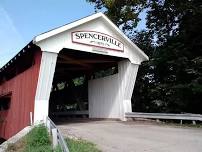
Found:
[[[96,46],[115,51],[124,51],[121,41],[110,35],[96,31],[75,31],[72,32],[72,42],[89,46]]]

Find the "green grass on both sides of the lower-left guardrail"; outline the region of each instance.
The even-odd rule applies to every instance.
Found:
[[[70,152],[100,152],[96,145],[86,140],[66,139]],[[15,144],[9,144],[6,152],[62,152],[58,146],[53,150],[48,131],[44,125],[34,127]]]

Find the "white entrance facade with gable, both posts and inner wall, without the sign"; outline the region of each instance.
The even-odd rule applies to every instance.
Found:
[[[123,44],[123,51],[74,43],[72,33],[75,31],[93,31],[93,33],[101,32],[109,35]],[[124,113],[131,111],[131,96],[138,66],[142,61],[148,60],[148,57],[104,14],[97,13],[41,34],[34,38],[33,43],[43,51],[35,97],[35,122],[44,120],[44,117],[48,115],[57,54],[63,48],[126,58],[125,61],[119,62],[117,74],[89,80],[89,116],[124,120]]]

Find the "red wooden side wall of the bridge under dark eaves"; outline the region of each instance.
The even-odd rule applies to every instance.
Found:
[[[34,111],[41,51],[31,46],[29,51],[21,51],[8,67],[1,69],[0,137],[4,139],[30,124],[30,112]]]

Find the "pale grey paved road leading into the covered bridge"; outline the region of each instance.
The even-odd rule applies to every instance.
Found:
[[[94,142],[104,152],[202,152],[202,129],[142,122],[60,124],[64,136]]]

